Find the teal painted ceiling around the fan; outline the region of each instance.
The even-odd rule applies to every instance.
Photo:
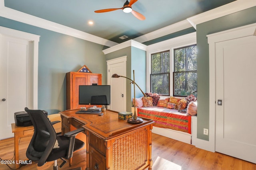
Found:
[[[32,16],[122,43],[233,1],[235,0],[138,0],[132,5],[132,9],[146,17],[143,21],[122,10],[94,12],[106,8],[122,8],[126,0],[4,0],[4,4]],[[94,25],[88,24],[90,20]],[[128,38],[118,38],[123,35]]]

